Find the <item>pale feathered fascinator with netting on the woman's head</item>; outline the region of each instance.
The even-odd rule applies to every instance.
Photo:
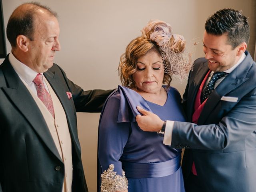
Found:
[[[142,36],[151,39],[162,50],[164,72],[176,75],[180,80],[187,77],[192,69],[191,53],[185,49],[185,39],[182,35],[173,34],[170,24],[152,19],[141,30]]]

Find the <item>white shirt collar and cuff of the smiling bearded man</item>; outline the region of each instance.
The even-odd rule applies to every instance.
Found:
[[[231,73],[240,63],[242,63],[242,61],[244,60],[244,58],[246,57],[246,54],[242,54],[241,58],[238,60],[238,62],[232,66],[232,68],[224,71],[226,73]],[[208,82],[210,81],[212,75],[213,75],[214,71],[212,71],[210,73],[210,75],[207,78],[206,83],[204,84],[204,88],[205,86],[208,84]],[[220,84],[220,82],[222,82],[224,80],[224,78],[226,78],[227,75],[223,76],[222,78],[218,79],[215,84],[214,84],[214,89]],[[174,125],[174,121],[166,121],[166,127],[165,127],[165,132],[164,132],[164,141],[163,143],[165,145],[171,145],[172,143],[172,129],[173,129],[173,125]]]

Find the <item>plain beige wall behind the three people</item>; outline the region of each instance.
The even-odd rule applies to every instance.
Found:
[[[200,38],[194,58],[203,57],[202,34],[208,16],[221,8],[242,10],[251,16],[253,0],[41,0],[58,12],[60,44],[55,62],[85,90],[112,89],[120,84],[118,63],[127,44],[140,35],[151,18],[169,22],[174,33],[189,41]],[[5,26],[14,8],[24,0],[2,0]],[[255,39],[254,39],[255,42]],[[10,44],[7,50],[10,52]],[[252,53],[251,53],[252,54]],[[2,60],[0,60],[2,62]],[[184,92],[183,84],[172,86]],[[90,192],[96,191],[96,153],[99,114],[78,113],[82,160]]]

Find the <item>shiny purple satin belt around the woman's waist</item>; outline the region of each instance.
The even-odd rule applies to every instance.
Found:
[[[181,156],[159,163],[122,162],[127,178],[156,178],[175,173],[180,168]]]

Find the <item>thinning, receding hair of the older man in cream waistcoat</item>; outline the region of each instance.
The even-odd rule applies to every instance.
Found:
[[[56,12],[38,2],[24,3],[14,10],[6,28],[6,35],[12,47],[16,47],[16,38],[19,35],[33,40],[34,18],[39,9],[44,9],[49,15],[57,17]]]

